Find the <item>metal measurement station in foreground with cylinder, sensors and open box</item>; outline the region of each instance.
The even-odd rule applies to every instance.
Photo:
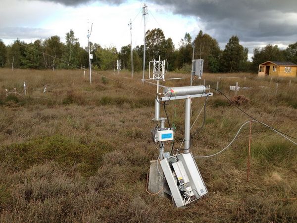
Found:
[[[156,123],[156,126],[151,130],[151,136],[152,141],[158,144],[159,157],[157,162],[151,162],[148,190],[154,194],[159,194],[160,192],[162,192],[160,194],[166,193],[172,197],[177,207],[182,207],[208,193],[196,162],[190,153],[191,99],[212,96],[212,93],[209,92],[210,86],[166,87],[159,85],[159,81],[164,82],[166,80],[165,65],[167,65],[166,60],[161,60],[160,56],[158,60],[149,62],[148,80],[156,81],[155,85],[157,86],[155,116],[152,119]],[[203,60],[196,60],[193,70],[193,75],[201,76],[203,72]],[[159,93],[159,87],[163,88],[162,93]],[[183,149],[183,154],[172,155],[174,149],[174,131],[170,126],[169,128],[165,127],[167,118],[160,117],[160,105],[164,105],[165,109],[165,106],[171,100],[179,99],[186,100],[185,148]],[[171,152],[164,153],[164,142],[170,140],[172,141]],[[159,165],[161,165],[161,168]],[[163,174],[160,170],[163,171]],[[166,180],[164,180],[164,177]]]

